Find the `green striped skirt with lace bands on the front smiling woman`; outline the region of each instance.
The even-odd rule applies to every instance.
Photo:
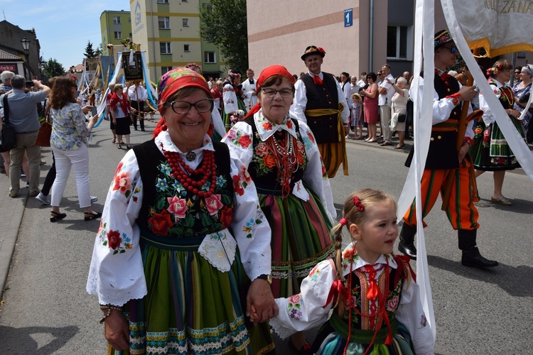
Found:
[[[188,240],[190,245],[179,250],[143,241],[148,294],[124,307],[130,349],[117,354],[264,354],[274,349],[268,322],[257,327],[245,322],[249,279],[238,251],[230,271],[222,273],[198,253],[201,239]]]

